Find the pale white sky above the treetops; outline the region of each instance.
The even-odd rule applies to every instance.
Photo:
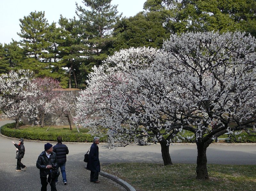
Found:
[[[123,17],[131,17],[143,11],[146,0],[112,0],[117,5]],[[0,0],[0,43],[9,44],[12,39],[20,40],[20,18],[28,16],[30,12],[44,11],[48,23],[58,23],[60,14],[66,18],[73,18],[76,13],[76,4],[83,6],[82,0]],[[83,6],[84,7],[84,6]]]

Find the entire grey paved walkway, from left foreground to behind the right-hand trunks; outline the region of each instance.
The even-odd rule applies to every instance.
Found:
[[[9,121],[4,121],[8,123]],[[0,121],[0,127],[3,121]],[[0,136],[0,190],[40,190],[39,170],[36,168],[38,155],[44,150],[45,142],[25,140],[25,157],[22,163],[28,166],[25,172],[15,172],[16,159],[15,147],[12,144],[13,138]],[[16,139],[17,140],[17,139]],[[18,142],[15,141],[14,142]],[[56,144],[56,142],[52,142]],[[79,191],[79,190],[104,190],[115,191],[124,190],[115,182],[101,177],[100,184],[90,183],[90,172],[84,169],[86,163],[83,162],[84,153],[88,151],[91,143],[65,143],[68,146],[67,155],[67,178],[68,185],[57,184],[57,190]],[[256,144],[216,144],[213,143],[207,149],[208,164],[236,164],[236,165],[256,165]],[[107,150],[107,145],[99,144],[101,165],[116,162],[148,162],[163,164],[160,144],[149,146],[128,145],[117,150]],[[173,163],[196,164],[195,144],[174,144],[170,146],[170,153]],[[23,182],[20,184],[19,182]],[[48,186],[50,190],[50,186]]]

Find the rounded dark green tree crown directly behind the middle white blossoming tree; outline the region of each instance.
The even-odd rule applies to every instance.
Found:
[[[116,24],[115,41],[109,52],[130,47],[161,48],[163,41],[170,36],[163,27],[163,18],[159,12],[140,12],[134,17],[123,18]]]

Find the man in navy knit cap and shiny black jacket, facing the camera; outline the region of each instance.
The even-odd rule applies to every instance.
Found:
[[[57,156],[52,151],[52,144],[46,143],[44,145],[44,151],[38,156],[36,161],[36,167],[40,169],[40,179],[41,179],[41,191],[47,191],[48,182],[51,186],[51,191],[56,190],[55,177],[49,175],[47,179],[47,175],[50,170],[53,170],[57,167]]]

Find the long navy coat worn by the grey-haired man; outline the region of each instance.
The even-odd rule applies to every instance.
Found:
[[[95,143],[92,143],[86,169],[93,172],[100,172],[99,147]]]

